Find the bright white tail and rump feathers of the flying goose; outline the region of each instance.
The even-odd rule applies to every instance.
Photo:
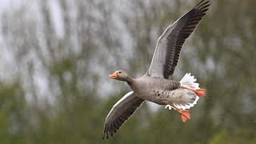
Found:
[[[197,79],[195,79],[194,76],[192,76],[190,73],[186,73],[180,82],[182,85],[190,86],[191,88],[194,88],[194,89],[199,89],[199,84],[196,81]],[[199,99],[198,95],[194,94],[194,92],[190,90],[186,90],[186,91],[187,91],[186,94],[188,94],[188,96],[195,96],[195,99],[193,102],[186,102],[182,104],[174,103],[174,106],[176,106],[178,109],[182,109],[182,110],[190,109],[198,102],[198,99]],[[172,108],[172,106],[166,105],[165,109],[167,107],[169,108],[169,110],[171,110]]]

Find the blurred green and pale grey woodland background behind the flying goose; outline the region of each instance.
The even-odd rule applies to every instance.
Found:
[[[256,143],[256,1],[211,1],[174,72],[206,98],[182,123],[146,102],[109,141],[126,70],[146,73],[158,37],[200,0],[1,0],[0,143]]]

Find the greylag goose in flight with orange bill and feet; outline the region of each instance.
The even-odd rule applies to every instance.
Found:
[[[106,116],[102,139],[108,139],[109,135],[113,137],[145,101],[174,108],[182,122],[190,120],[188,109],[196,104],[199,97],[205,96],[206,90],[200,89],[190,74],[186,74],[180,82],[169,79],[169,76],[174,74],[186,38],[193,33],[209,6],[209,1],[202,0],[167,27],[158,38],[149,70],[141,78],[131,78],[123,70],[110,74],[110,78],[127,82],[132,91],[121,98]]]

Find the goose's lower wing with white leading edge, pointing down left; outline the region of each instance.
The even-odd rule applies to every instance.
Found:
[[[130,91],[122,97],[110,110],[106,116],[106,122],[103,130],[103,138],[114,136],[124,122],[142,105],[144,99],[138,98],[134,91]]]

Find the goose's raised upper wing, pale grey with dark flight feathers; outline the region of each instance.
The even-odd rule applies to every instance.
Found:
[[[202,0],[192,10],[167,27],[158,38],[154,56],[148,74],[152,77],[169,78],[174,74],[182,46],[186,38],[193,33],[210,4]]]

